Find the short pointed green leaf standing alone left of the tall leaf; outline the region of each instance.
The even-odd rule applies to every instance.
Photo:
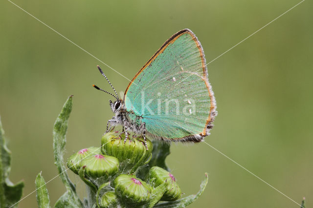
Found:
[[[47,187],[45,186],[45,179],[41,175],[41,172],[36,177],[36,191],[37,191],[37,203],[39,208],[50,208],[50,199]]]

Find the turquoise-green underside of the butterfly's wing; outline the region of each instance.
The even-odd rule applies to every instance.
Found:
[[[143,117],[149,133],[169,139],[203,132],[210,102],[201,53],[188,33],[169,44],[125,96],[127,110]]]

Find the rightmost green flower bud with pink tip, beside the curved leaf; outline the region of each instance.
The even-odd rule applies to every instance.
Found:
[[[150,168],[145,180],[149,181],[150,185],[153,187],[158,187],[164,182],[167,183],[167,188],[161,198],[161,201],[176,201],[181,196],[181,190],[176,183],[175,177],[170,172],[161,167],[154,166]]]

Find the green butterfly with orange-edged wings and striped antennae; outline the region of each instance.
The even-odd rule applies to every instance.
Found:
[[[115,114],[107,123],[122,125],[125,140],[129,131],[161,141],[201,142],[213,127],[216,102],[208,80],[201,43],[189,29],[170,37],[134,76],[120,99],[110,100]],[[124,130],[125,128],[125,130]],[[146,142],[145,146],[148,149]]]

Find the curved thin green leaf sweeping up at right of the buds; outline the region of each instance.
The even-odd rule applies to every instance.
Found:
[[[190,205],[191,203],[196,201],[201,196],[201,194],[203,193],[203,191],[207,185],[207,181],[208,181],[208,177],[207,177],[207,173],[205,173],[205,179],[202,181],[202,183],[200,185],[200,191],[197,194],[184,197],[184,198],[177,200],[175,202],[161,203],[161,204],[156,205],[155,208],[184,208],[184,207]]]

